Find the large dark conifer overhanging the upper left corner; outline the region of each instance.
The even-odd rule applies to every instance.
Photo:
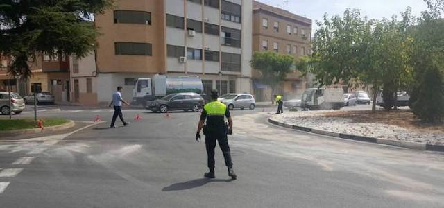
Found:
[[[29,78],[37,54],[84,57],[99,32],[93,15],[113,0],[0,1],[0,54],[12,57],[11,75]]]

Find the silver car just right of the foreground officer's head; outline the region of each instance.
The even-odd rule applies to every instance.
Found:
[[[255,98],[250,94],[225,94],[217,100],[227,105],[229,110],[234,108],[254,110],[256,107]]]

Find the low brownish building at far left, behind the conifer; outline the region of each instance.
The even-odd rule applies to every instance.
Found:
[[[0,57],[0,91],[11,86],[12,92],[22,96],[36,92],[51,92],[57,102],[69,102],[69,57],[50,57],[36,55],[34,62],[29,62],[33,75],[28,80],[17,79],[8,75],[11,58]]]

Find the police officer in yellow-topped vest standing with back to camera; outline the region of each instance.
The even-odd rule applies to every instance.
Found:
[[[233,171],[233,164],[230,155],[230,146],[228,146],[227,135],[232,135],[233,121],[230,116],[228,107],[217,101],[219,92],[213,89],[211,92],[212,101],[207,103],[203,107],[202,114],[200,115],[200,121],[198,130],[196,133],[196,140],[200,140],[200,130],[203,130],[205,135],[205,146],[207,148],[208,168],[209,172],[205,173],[205,177],[214,178],[214,148],[216,148],[216,140],[221,147],[223,158],[225,159],[225,165],[228,167],[228,176],[233,180],[237,178],[236,173]],[[228,126],[225,124],[224,116],[228,119]],[[206,125],[204,125],[207,120]]]

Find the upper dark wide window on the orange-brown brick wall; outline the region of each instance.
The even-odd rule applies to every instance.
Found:
[[[142,11],[114,11],[114,23],[151,25],[151,13]]]

